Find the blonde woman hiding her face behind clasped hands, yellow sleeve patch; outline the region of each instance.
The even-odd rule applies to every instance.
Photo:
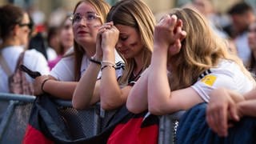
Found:
[[[148,70],[128,96],[128,110],[170,114],[209,102],[218,87],[245,94],[254,79],[237,56],[228,52],[198,12],[174,9],[154,30],[154,52]]]

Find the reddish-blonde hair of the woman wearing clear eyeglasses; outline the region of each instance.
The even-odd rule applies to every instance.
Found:
[[[89,3],[91,6],[94,6],[94,9],[97,11],[97,14],[100,15],[100,20],[102,23],[106,22],[106,15],[110,11],[110,5],[104,0],[82,0],[77,3],[74,7],[74,12],[77,10],[78,6],[83,2]],[[85,51],[82,49],[82,46],[78,44],[78,42],[74,41],[74,78],[76,81],[81,77],[80,75],[80,67],[82,65],[82,57],[85,54]]]

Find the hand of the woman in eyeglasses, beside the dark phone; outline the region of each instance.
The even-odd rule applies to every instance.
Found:
[[[49,79],[49,75],[42,75],[40,77],[37,77],[34,79],[34,95],[41,95],[43,94],[42,91],[42,82],[44,82],[46,79]]]

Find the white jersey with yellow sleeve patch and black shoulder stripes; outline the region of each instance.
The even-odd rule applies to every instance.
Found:
[[[192,86],[205,102],[209,102],[210,92],[218,87],[234,90],[239,94],[245,94],[254,87],[254,81],[246,77],[235,62],[222,60],[216,68],[211,68],[210,71],[210,74]]]

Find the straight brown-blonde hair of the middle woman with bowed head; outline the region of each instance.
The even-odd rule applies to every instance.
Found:
[[[112,6],[107,16],[107,22],[113,21],[114,25],[132,26],[138,30],[142,45],[142,70],[150,65],[150,58],[153,51],[153,34],[155,20],[150,8],[141,0],[121,1]],[[126,84],[130,74],[134,70],[134,58],[126,59],[126,68],[119,83]]]

